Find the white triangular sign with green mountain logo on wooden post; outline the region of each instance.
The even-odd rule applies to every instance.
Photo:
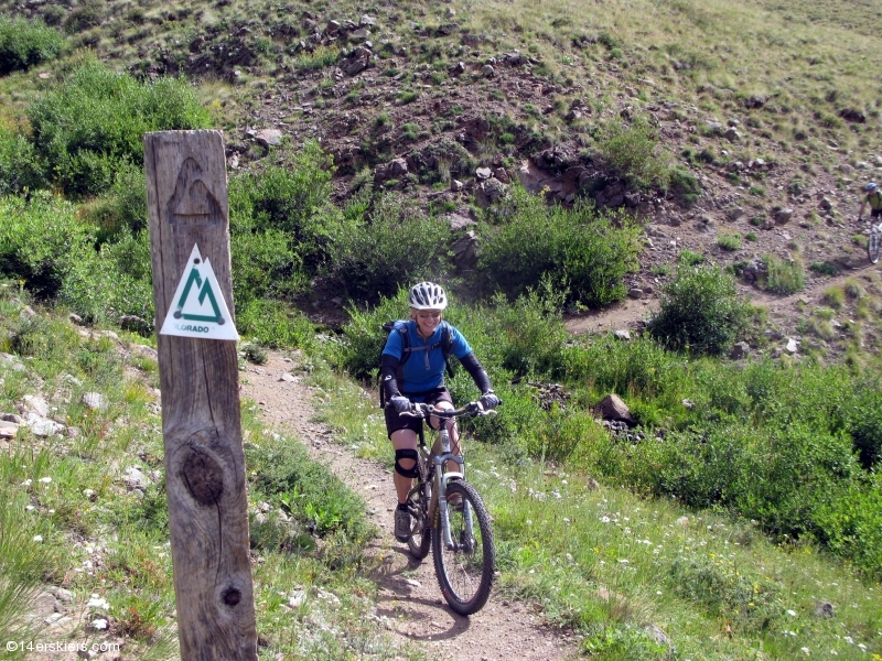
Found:
[[[159,333],[203,339],[239,339],[212,262],[203,261],[196,243]]]

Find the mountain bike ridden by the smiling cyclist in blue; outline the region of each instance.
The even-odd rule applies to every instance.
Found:
[[[442,410],[431,404],[415,403],[404,415],[442,421],[488,415],[478,402],[461,409]],[[450,607],[460,615],[473,615],[484,607],[493,586],[496,548],[490,513],[475,488],[465,481],[465,460],[450,451],[447,424],[432,448],[426,446],[424,425],[420,426],[418,454],[419,477],[408,494],[408,509],[413,521],[408,538],[410,554],[422,560],[431,543],[434,573]],[[455,463],[458,470],[445,466]]]

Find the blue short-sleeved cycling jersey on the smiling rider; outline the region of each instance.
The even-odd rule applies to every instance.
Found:
[[[405,322],[407,328],[408,339],[410,340],[411,350],[410,357],[401,365],[401,372],[404,382],[399,380],[398,388],[401,393],[408,395],[416,392],[426,392],[438,388],[444,382],[444,355],[441,351],[441,324],[434,329],[434,333],[429,339],[422,339],[417,330],[417,322]],[[465,342],[462,333],[450,326],[450,338],[452,340],[451,353],[456,358],[465,358],[472,353],[472,347]],[[438,345],[434,349],[419,350],[420,347],[429,347]],[[386,340],[386,346],[383,348],[383,354],[392,356],[399,360],[404,357],[404,345],[401,343],[401,335],[397,330],[389,333]],[[419,398],[412,398],[419,399]]]

